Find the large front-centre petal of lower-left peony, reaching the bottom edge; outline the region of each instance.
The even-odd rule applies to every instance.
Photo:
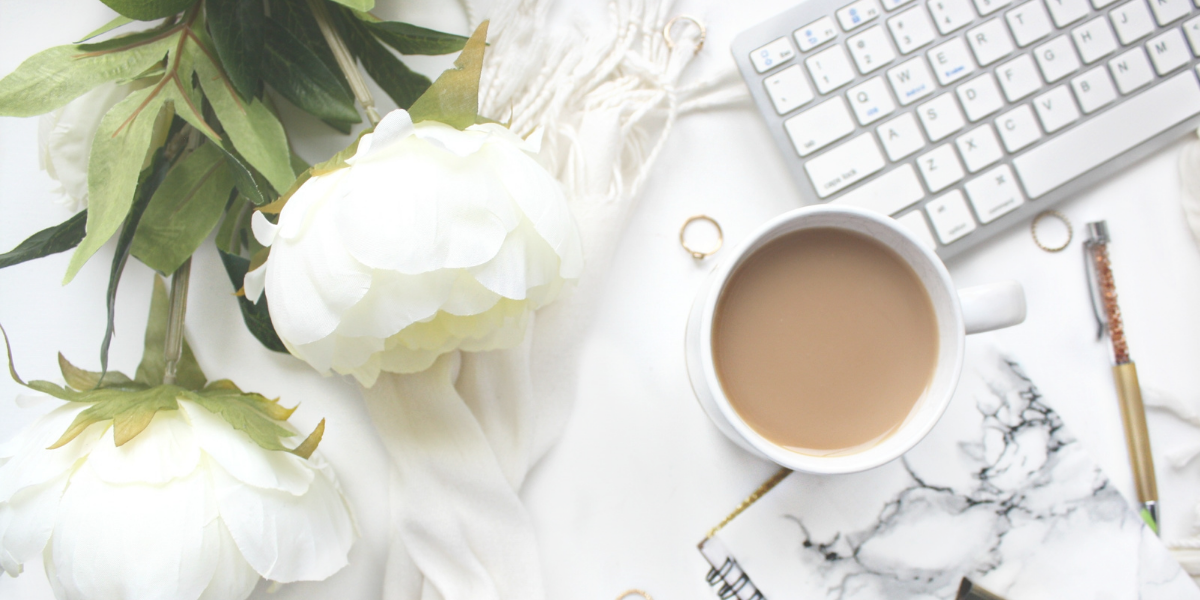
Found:
[[[62,494],[53,536],[62,600],[196,600],[220,536],[200,470],[166,485],[110,485],[85,463]]]

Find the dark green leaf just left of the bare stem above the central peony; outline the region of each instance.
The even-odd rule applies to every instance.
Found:
[[[272,19],[263,28],[263,78],[281,96],[319,119],[361,122],[354,97],[311,49]]]

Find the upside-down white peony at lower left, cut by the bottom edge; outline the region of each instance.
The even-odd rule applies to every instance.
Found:
[[[258,577],[323,580],[355,538],[332,470],[259,448],[196,403],[121,446],[112,421],[47,450],[88,404],[0,446],[0,566],[43,556],[60,600],[241,600]]]

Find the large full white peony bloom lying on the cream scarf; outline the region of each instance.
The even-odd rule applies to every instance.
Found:
[[[292,354],[362,385],[454,349],[521,342],[529,313],[578,277],[582,246],[559,182],[499,125],[458,131],[394,110],[349,167],[313,176],[278,224],[256,212],[271,320]]]

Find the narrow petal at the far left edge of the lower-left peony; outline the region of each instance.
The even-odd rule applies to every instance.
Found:
[[[64,472],[18,491],[8,502],[0,502],[0,568],[8,575],[19,575],[22,564],[46,547],[70,475]]]

